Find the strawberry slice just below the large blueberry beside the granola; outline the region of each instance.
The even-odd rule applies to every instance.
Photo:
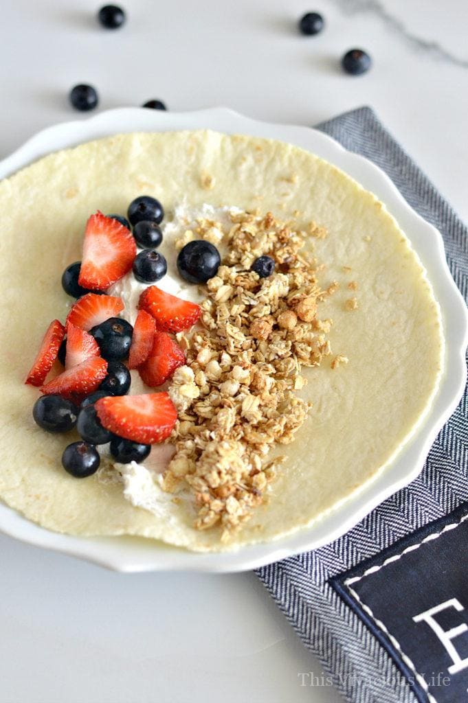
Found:
[[[188,330],[201,315],[199,305],[165,293],[157,285],[150,285],[141,293],[138,307],[153,316],[160,332]]]

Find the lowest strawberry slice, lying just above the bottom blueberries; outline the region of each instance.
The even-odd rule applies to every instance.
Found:
[[[177,410],[167,393],[108,396],[94,404],[106,430],[141,444],[156,444],[169,437]]]

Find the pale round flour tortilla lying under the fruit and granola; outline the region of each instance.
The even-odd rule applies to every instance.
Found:
[[[301,226],[315,220],[329,230],[328,238],[310,240],[327,264],[322,285],[341,284],[320,316],[333,318],[331,347],[349,363],[331,370],[325,359],[305,370],[309,382],[301,395],[314,404],[310,418],[293,444],[279,448],[287,460],[267,504],[227,546],[217,529],[196,531],[194,515],[181,505],[155,517],[126,501],[120,485],[70,477],[61,453],[77,437],[34,425],[38,392],[23,384],[46,326],[65,319],[70,298],[61,273],[81,257],[89,214],[125,214],[142,194],[159,198],[169,217],[185,200],[258,207],[280,218],[300,211]],[[381,472],[436,392],[441,317],[417,255],[372,193],[305,150],[213,131],[113,136],[53,153],[2,181],[0,209],[0,496],[43,527],[139,535],[191,550],[278,538],[319,519]],[[355,292],[347,288],[351,280]],[[353,295],[359,308],[346,311]]]

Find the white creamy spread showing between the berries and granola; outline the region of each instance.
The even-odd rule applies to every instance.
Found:
[[[220,223],[224,232],[229,231],[232,226],[232,221],[229,218],[230,212],[240,212],[236,207],[213,207],[203,203],[200,207],[188,207],[185,204],[178,205],[175,208],[174,217],[161,225],[163,232],[163,241],[158,247],[158,252],[164,255],[167,261],[167,273],[161,280],[158,280],[155,285],[161,290],[172,295],[177,295],[191,302],[199,302],[203,298],[203,294],[198,286],[194,283],[187,283],[177,271],[177,254],[178,250],[175,247],[177,239],[182,238],[187,230],[194,233],[194,239],[197,239],[196,227],[198,226],[197,219],[203,218],[213,220]],[[216,236],[216,232],[213,233]],[[220,247],[218,247],[220,248]],[[110,295],[118,295],[122,298],[125,305],[125,318],[134,324],[137,318],[137,307],[141,292],[153,285],[151,283],[140,283],[129,271],[126,276],[114,283],[108,290]],[[137,370],[132,370],[132,385],[130,386],[129,394],[141,394],[155,392],[155,389],[148,388],[141,380]],[[159,389],[156,389],[159,390]],[[108,444],[98,446],[99,453],[110,458]],[[160,474],[165,470],[174,454],[172,444],[153,444],[151,454],[143,464],[137,464],[132,461],[129,464],[114,463],[115,469],[118,471],[116,477],[122,482],[124,489],[123,495],[137,508],[149,510],[153,515],[158,517],[167,517],[170,515],[168,507],[172,501],[171,494],[165,493],[159,486]],[[103,479],[107,480],[107,479]]]

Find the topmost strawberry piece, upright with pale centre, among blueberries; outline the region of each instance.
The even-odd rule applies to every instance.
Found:
[[[137,244],[129,229],[98,210],[84,231],[78,283],[91,290],[107,290],[132,268],[136,256]]]

